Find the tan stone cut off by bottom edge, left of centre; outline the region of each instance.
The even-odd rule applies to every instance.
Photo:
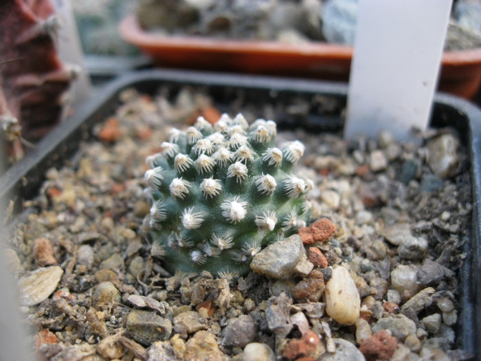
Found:
[[[186,343],[186,361],[227,361],[229,358],[217,345],[216,336],[209,331],[197,331]]]

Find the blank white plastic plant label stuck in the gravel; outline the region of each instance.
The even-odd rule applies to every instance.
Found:
[[[452,0],[360,0],[344,136],[429,120]]]

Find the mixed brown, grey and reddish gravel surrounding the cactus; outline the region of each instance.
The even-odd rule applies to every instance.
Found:
[[[249,123],[307,116],[306,100],[263,108],[235,94],[220,109],[184,87],[126,89],[122,105],[10,219],[8,254],[25,327],[43,360],[467,360],[456,346],[458,270],[469,241],[466,149],[451,129],[421,145],[343,140],[278,127],[300,140],[293,173],[313,184],[299,232],[256,250],[245,276],[170,274],[150,238],[146,157],[171,127],[224,111]],[[323,98],[317,106],[330,107]],[[267,216],[266,216],[267,217]],[[303,224],[301,225],[303,226]],[[250,259],[249,259],[250,260]],[[254,271],[255,270],[255,271]],[[34,351],[32,351],[34,352]]]

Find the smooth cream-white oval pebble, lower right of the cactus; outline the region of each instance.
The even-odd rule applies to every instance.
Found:
[[[339,266],[333,270],[331,279],[324,291],[326,313],[342,325],[353,325],[359,318],[361,299],[359,292],[346,268]]]

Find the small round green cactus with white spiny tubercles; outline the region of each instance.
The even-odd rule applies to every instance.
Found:
[[[147,157],[148,231],[167,270],[245,274],[263,247],[306,225],[311,181],[291,173],[304,145],[275,138],[271,120],[199,117]]]

